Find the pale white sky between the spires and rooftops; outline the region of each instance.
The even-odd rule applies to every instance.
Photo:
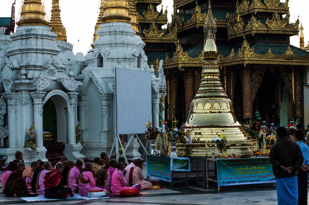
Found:
[[[15,18],[19,19],[19,10],[23,0],[16,0]],[[285,0],[284,0],[285,1]],[[11,5],[14,0],[0,0],[0,17],[11,16]],[[52,0],[42,0],[46,11],[51,10]],[[83,52],[84,54],[90,49],[92,42],[94,27],[98,19],[100,0],[60,0],[61,2],[61,19],[66,28],[68,41],[74,45],[73,52]],[[281,0],[283,2],[283,0]],[[168,10],[168,20],[171,21],[171,13],[173,12],[173,1],[162,0],[163,11],[166,6]],[[290,0],[290,21],[295,22],[297,16],[303,19],[305,46],[309,41],[309,12],[308,0]],[[158,6],[161,10],[161,5]],[[47,18],[50,19],[50,12],[47,12]],[[15,27],[16,28],[16,27]],[[78,41],[79,40],[79,41]],[[298,36],[290,37],[290,43],[299,47]]]

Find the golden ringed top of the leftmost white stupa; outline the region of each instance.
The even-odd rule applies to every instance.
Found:
[[[45,20],[44,6],[41,0],[24,0],[17,26],[38,25],[48,26]]]

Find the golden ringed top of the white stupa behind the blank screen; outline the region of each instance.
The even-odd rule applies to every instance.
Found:
[[[123,22],[129,23],[129,6],[126,0],[105,0],[103,5],[103,23]]]

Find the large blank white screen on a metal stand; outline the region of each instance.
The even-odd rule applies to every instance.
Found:
[[[116,68],[117,134],[145,133],[152,121],[150,71]]]

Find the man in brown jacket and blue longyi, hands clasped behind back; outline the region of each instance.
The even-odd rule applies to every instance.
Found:
[[[276,179],[278,205],[297,205],[297,173],[303,165],[303,154],[299,145],[286,137],[285,127],[277,128],[276,132],[278,141],[270,150],[269,161]]]

